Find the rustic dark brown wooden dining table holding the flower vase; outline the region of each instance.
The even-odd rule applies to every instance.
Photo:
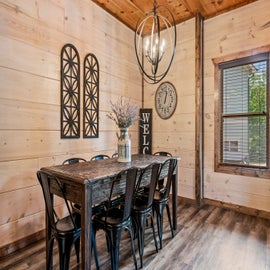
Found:
[[[122,170],[131,167],[145,168],[154,162],[163,163],[169,158],[171,157],[136,154],[132,155],[131,162],[127,163],[118,162],[117,158],[110,158],[41,168],[42,171],[53,174],[63,183],[68,200],[81,205],[81,269],[91,269],[92,206],[108,199],[112,177]],[[177,157],[173,158],[179,160]],[[172,179],[174,229],[177,228],[177,167]],[[165,172],[161,172],[160,178],[164,178],[166,176],[165,174]],[[60,196],[57,186],[53,185],[53,183],[51,183],[50,192],[52,196],[54,194]],[[47,223],[46,232],[48,235]]]

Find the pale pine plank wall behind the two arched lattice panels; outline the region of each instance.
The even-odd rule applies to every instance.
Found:
[[[118,129],[106,117],[109,102],[126,96],[141,106],[142,100],[133,38],[90,0],[0,1],[0,249],[44,228],[39,168],[71,156],[89,160],[116,152]],[[97,139],[83,139],[82,133],[80,139],[60,139],[60,52],[66,43],[80,55],[81,94],[85,55],[99,61]],[[138,127],[130,133],[137,153]]]

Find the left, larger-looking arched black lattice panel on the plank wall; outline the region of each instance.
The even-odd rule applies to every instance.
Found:
[[[72,44],[61,50],[61,138],[80,137],[80,58]]]

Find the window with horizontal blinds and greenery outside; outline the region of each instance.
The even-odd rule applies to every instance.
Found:
[[[217,68],[216,171],[269,177],[269,53]]]

